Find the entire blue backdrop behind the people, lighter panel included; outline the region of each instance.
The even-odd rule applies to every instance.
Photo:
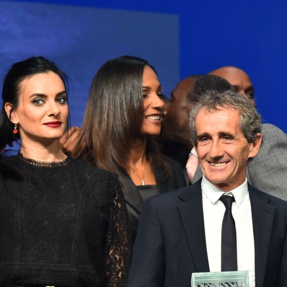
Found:
[[[29,49],[55,60],[72,78],[73,124],[80,125],[98,67],[133,54],[155,66],[167,94],[188,75],[224,65],[242,68],[252,79],[264,122],[287,132],[286,1],[29,2],[0,1],[0,76]],[[31,2],[37,8],[27,12],[23,7]]]

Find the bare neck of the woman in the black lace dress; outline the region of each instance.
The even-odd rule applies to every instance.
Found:
[[[20,152],[23,156],[37,161],[56,162],[62,161],[67,156],[61,150],[59,140],[52,142],[40,143],[36,141],[21,139]]]

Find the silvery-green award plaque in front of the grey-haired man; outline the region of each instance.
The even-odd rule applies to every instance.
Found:
[[[191,287],[249,287],[248,271],[192,273]]]

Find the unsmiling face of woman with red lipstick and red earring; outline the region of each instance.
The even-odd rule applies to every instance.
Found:
[[[19,84],[19,104],[11,114],[18,124],[22,142],[50,142],[65,132],[69,108],[61,78],[41,73],[25,78]]]

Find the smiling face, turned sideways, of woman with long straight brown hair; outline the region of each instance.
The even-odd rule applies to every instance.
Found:
[[[143,73],[144,120],[141,128],[144,135],[159,135],[160,133],[164,110],[161,92],[162,88],[155,72],[149,66],[145,66]]]

